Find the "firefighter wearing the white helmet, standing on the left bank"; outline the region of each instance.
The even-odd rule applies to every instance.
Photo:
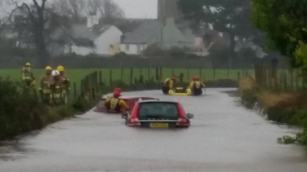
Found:
[[[52,71],[53,80],[50,83],[51,90],[51,104],[55,106],[60,106],[64,104],[64,99],[62,97],[64,84],[63,80],[61,80],[60,72],[58,70]]]

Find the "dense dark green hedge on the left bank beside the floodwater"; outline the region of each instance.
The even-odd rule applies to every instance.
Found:
[[[0,78],[0,140],[41,129],[65,117],[72,117],[70,107],[45,107],[36,92],[21,83]]]

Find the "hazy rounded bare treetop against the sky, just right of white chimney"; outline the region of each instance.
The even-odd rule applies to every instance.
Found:
[[[122,18],[124,11],[112,0],[89,0],[90,11],[99,11],[102,18]]]

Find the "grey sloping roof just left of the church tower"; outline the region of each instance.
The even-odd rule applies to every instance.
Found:
[[[124,44],[143,44],[147,43],[162,24],[158,20],[144,21],[123,40]]]

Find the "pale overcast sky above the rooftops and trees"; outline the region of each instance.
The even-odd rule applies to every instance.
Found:
[[[1,1],[1,0],[0,0]],[[7,1],[7,0],[2,0]],[[39,0],[38,0],[39,1]],[[53,0],[48,0],[53,2]],[[87,0],[84,0],[87,1]],[[157,0],[113,0],[125,12],[126,18],[157,18],[158,1]],[[18,0],[18,2],[31,3],[32,0]],[[9,7],[7,7],[8,9]],[[1,16],[1,10],[0,10]]]

